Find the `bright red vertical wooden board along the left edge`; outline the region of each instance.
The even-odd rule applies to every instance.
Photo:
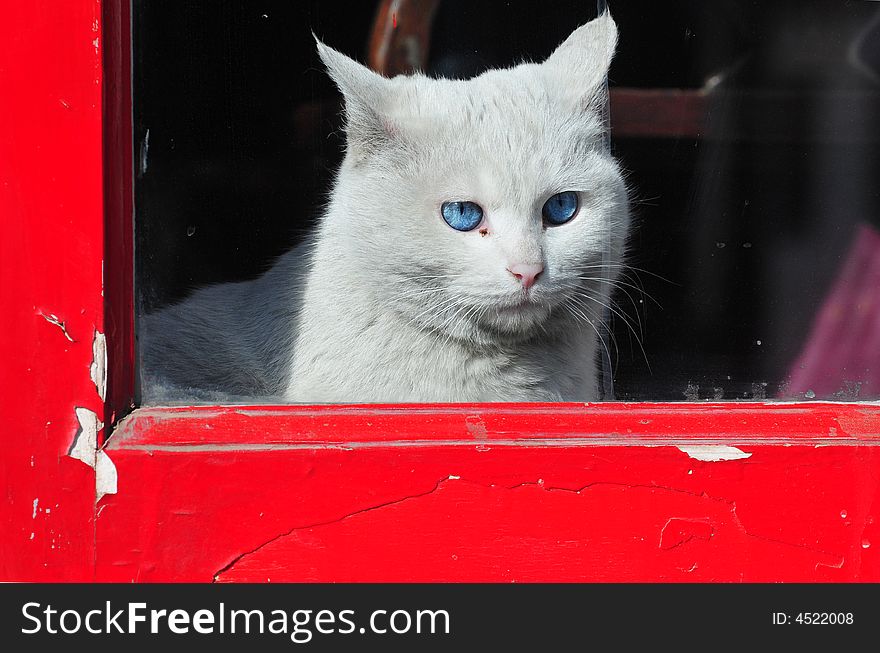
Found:
[[[0,9],[2,580],[92,576],[95,475],[67,452],[75,407],[103,418],[100,9]]]

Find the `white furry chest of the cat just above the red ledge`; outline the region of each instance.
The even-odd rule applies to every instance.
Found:
[[[302,334],[287,396],[295,401],[587,400],[587,352],[571,343],[464,346],[393,316],[349,316]]]

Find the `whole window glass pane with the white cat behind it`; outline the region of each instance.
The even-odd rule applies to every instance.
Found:
[[[136,0],[142,401],[880,398],[880,6],[609,6]]]

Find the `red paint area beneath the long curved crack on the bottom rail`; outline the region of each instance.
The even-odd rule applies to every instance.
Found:
[[[681,527],[673,536],[679,541],[658,549],[660,506],[708,509],[718,524],[717,541],[710,545],[714,532],[707,521],[667,521],[667,529]],[[835,567],[839,559],[803,543],[749,533],[724,501],[675,489],[598,482],[554,493],[441,481],[417,497],[273,538],[217,580],[842,580],[845,573],[825,573],[843,572]]]

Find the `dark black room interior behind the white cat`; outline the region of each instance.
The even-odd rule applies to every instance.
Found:
[[[343,147],[311,33],[365,61],[378,4],[135,0],[139,311],[252,278],[308,231]],[[626,319],[611,315],[616,398],[880,397],[870,350],[840,357],[825,390],[792,385],[848,257],[880,228],[880,6],[609,4],[612,92],[707,91],[699,133],[673,136],[617,132],[612,99],[636,220]],[[540,60],[595,13],[444,0],[428,72]]]

